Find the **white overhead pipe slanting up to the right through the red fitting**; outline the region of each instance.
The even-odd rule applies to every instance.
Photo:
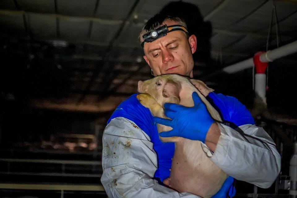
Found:
[[[297,41],[284,45],[282,47],[269,50],[260,56],[261,62],[272,62],[275,59],[282,58],[297,52]],[[232,74],[254,66],[253,58],[248,58],[244,61],[223,68],[226,73]]]

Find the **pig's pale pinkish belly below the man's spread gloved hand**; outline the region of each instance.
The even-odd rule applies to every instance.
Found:
[[[227,178],[204,153],[200,141],[175,142],[170,172],[170,187],[201,197],[213,196]]]

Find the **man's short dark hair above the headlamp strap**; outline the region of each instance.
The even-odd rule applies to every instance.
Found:
[[[173,17],[170,15],[164,15],[164,14],[156,14],[155,16],[153,16],[152,18],[150,18],[145,24],[144,27],[141,29],[139,36],[138,36],[138,41],[141,44],[141,38],[142,36],[147,33],[150,32],[156,28],[159,28],[160,26],[162,26],[162,23],[166,20],[169,19],[171,21],[175,21],[176,24],[178,25],[182,25],[185,28],[187,28],[186,22],[183,21],[182,19],[180,19],[179,17]]]

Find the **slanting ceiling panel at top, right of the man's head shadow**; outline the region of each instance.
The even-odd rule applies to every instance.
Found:
[[[232,24],[235,24],[236,21],[248,15],[265,1],[266,0],[237,0],[229,2],[228,5],[210,18],[213,28],[230,28]]]

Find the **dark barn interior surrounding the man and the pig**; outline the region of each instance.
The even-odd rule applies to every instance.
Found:
[[[153,77],[137,37],[169,2],[0,1],[1,197],[106,197],[102,134],[114,109],[137,93],[137,82]],[[198,6],[207,22],[194,78],[246,105],[282,156],[272,187],[238,181],[235,197],[288,197],[297,133],[297,1],[182,2]],[[254,67],[237,63],[288,45],[291,53],[268,63],[266,104],[259,104]]]

